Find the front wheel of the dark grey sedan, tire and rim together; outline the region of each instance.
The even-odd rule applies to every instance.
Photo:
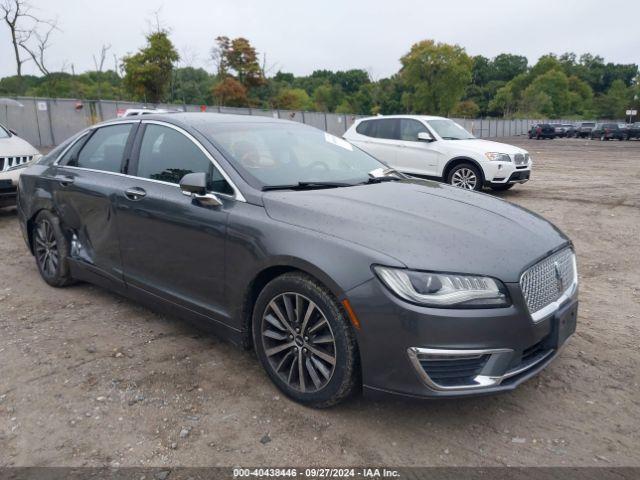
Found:
[[[252,330],[262,367],[296,402],[326,408],[359,389],[351,324],[333,294],[314,278],[285,273],[269,282],[256,300]]]

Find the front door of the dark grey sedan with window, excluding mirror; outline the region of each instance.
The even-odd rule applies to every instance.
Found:
[[[224,257],[234,190],[213,157],[186,131],[143,121],[126,182],[118,192],[118,226],[128,287],[225,320]],[[206,206],[182,193],[192,172],[209,175],[222,201]]]

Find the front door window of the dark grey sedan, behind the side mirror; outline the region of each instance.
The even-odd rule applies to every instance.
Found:
[[[147,124],[137,176],[178,184],[186,174],[195,172],[209,174],[209,190],[233,194],[231,185],[193,141],[173,128]]]

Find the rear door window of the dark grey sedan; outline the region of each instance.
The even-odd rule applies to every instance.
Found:
[[[120,172],[122,156],[133,124],[101,127],[86,141],[77,157],[70,157],[69,165],[105,172]]]

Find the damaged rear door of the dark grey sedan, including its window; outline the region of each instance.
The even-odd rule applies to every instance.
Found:
[[[123,164],[138,122],[108,125],[88,133],[52,169],[54,204],[71,236],[71,256],[108,287],[122,286],[114,196],[122,190]]]

